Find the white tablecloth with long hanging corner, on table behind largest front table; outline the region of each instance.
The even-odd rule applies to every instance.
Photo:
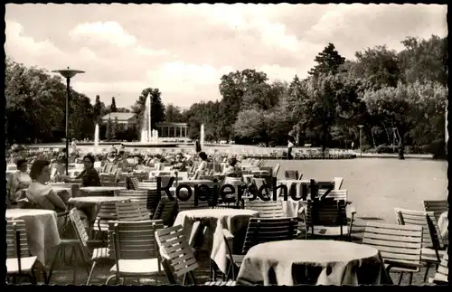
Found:
[[[234,245],[241,246],[243,244],[246,228],[251,217],[259,216],[259,212],[252,210],[238,209],[204,209],[190,210],[179,212],[174,226],[182,225],[186,232],[187,239],[191,239],[193,223],[202,221],[202,225],[206,226],[206,232],[203,235],[202,247],[211,251],[211,259],[215,261],[221,272],[227,272],[228,260],[226,242],[223,238],[223,229],[231,231],[234,236]],[[231,247],[233,248],[233,247]],[[240,252],[240,250],[237,250]]]

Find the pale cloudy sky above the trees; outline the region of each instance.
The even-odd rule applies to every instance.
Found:
[[[306,77],[328,42],[345,58],[407,36],[447,35],[447,5],[5,5],[5,52],[47,71],[86,71],[73,89],[130,107],[158,88],[165,105],[220,100],[223,74]]]

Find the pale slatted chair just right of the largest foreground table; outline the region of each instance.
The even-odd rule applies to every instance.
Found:
[[[372,246],[381,253],[386,272],[399,271],[399,285],[403,273],[419,272],[424,265],[420,262],[422,227],[368,222],[364,229],[363,244]]]

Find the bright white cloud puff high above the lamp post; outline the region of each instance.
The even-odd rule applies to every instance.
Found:
[[[95,39],[120,47],[132,46],[137,42],[136,37],[125,32],[117,22],[78,24],[69,32],[69,35],[77,41]]]

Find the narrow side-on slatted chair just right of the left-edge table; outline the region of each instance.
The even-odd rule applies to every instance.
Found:
[[[89,281],[94,272],[94,268],[101,261],[111,261],[113,257],[109,254],[108,246],[101,240],[89,240],[88,233],[80,219],[80,215],[74,208],[69,213],[71,223],[74,228],[77,240],[80,242],[81,254],[84,259],[87,259],[86,264],[92,263],[88,274],[88,280],[86,285],[89,285]],[[75,273],[74,268],[74,273]],[[75,278],[75,277],[74,277]]]

